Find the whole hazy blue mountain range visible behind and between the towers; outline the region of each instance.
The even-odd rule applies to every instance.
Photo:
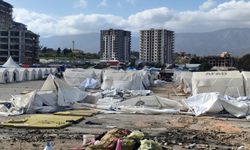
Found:
[[[72,47],[88,52],[100,49],[100,34],[80,34],[41,38],[41,45],[52,48]],[[139,50],[139,37],[132,37],[132,50]],[[225,29],[206,33],[176,33],[175,50],[197,55],[218,55],[230,51],[234,55],[250,53],[250,28]]]

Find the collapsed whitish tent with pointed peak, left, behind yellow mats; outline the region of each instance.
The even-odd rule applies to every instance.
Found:
[[[11,100],[11,108],[1,115],[20,115],[23,113],[50,113],[69,107],[75,102],[83,101],[87,93],[70,87],[64,81],[50,75],[40,91],[26,95],[15,95]]]

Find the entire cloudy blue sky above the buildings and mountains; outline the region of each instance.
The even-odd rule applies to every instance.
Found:
[[[101,29],[178,33],[250,27],[249,0],[5,0],[14,20],[42,37]]]

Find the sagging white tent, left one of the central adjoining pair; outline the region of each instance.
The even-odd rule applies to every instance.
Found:
[[[66,69],[63,73],[65,81],[74,87],[78,87],[87,78],[93,78],[100,84],[102,76],[102,70],[99,69]]]

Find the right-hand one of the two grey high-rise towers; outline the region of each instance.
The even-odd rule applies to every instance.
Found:
[[[140,60],[171,64],[173,62],[174,32],[165,29],[140,31]]]

